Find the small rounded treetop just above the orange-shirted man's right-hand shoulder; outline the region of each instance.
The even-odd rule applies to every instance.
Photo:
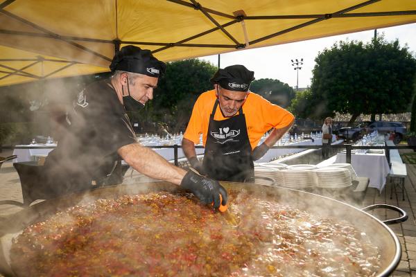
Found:
[[[285,108],[295,98],[295,91],[288,84],[269,78],[254,80],[250,91],[258,93],[270,102]]]

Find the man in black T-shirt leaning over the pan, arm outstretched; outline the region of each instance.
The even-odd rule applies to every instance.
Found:
[[[218,181],[168,163],[140,145],[127,111],[137,111],[153,98],[153,89],[166,65],[149,50],[124,46],[112,60],[110,80],[90,84],[78,94],[70,127],[44,165],[44,181],[52,196],[105,185],[124,160],[148,177],[170,181],[193,193],[203,204],[227,203]]]

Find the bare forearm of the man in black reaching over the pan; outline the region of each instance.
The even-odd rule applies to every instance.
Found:
[[[129,166],[154,179],[180,185],[187,173],[182,168],[173,166],[155,151],[139,143],[125,145],[119,148],[117,152]]]

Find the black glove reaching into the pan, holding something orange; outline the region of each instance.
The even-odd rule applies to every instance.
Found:
[[[223,204],[227,204],[227,190],[218,183],[203,177],[196,173],[194,170],[189,170],[184,179],[180,183],[180,186],[185,190],[189,190],[193,193],[202,204],[208,205],[214,202],[214,208],[220,207],[220,195],[223,197]]]

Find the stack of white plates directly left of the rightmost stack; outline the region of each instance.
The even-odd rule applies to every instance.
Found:
[[[284,169],[280,170],[285,188],[312,188],[315,186],[315,178],[311,170]]]

